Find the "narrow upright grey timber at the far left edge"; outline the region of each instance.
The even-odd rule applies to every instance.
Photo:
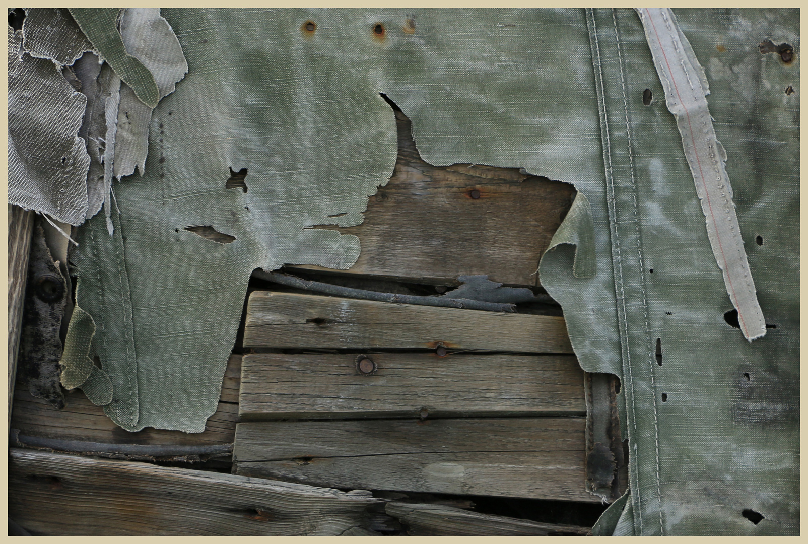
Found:
[[[28,255],[34,229],[34,213],[9,205],[8,217],[8,421],[11,422],[16,382],[19,333],[28,276]]]

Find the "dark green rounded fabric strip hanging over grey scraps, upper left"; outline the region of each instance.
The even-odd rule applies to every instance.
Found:
[[[124,40],[118,32],[121,8],[73,7],[70,8],[70,15],[73,15],[103,60],[112,66],[121,80],[132,87],[137,98],[149,108],[154,108],[160,99],[160,91],[149,69],[126,52]]]

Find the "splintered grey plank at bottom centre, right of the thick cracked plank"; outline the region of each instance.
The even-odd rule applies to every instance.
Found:
[[[443,504],[385,504],[385,512],[398,518],[412,536],[545,536],[589,533],[590,527],[557,525],[515,517],[469,512]]]

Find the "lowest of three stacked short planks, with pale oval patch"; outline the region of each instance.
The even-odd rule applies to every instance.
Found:
[[[327,487],[600,501],[584,418],[273,421],[236,427],[237,474]]]

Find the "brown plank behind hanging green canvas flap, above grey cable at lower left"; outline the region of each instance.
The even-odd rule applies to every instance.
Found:
[[[233,442],[238,421],[238,382],[242,356],[230,356],[217,411],[208,419],[204,432],[145,428],[128,432],[118,427],[79,390],[65,394],[67,407],[57,410],[46,401],[34,399],[24,388],[15,393],[11,427],[20,434],[62,440],[107,444],[211,445]]]

